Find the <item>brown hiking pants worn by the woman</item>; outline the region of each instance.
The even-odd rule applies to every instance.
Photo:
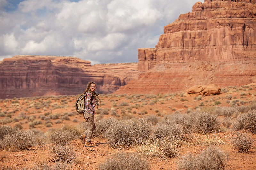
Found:
[[[84,134],[87,136],[87,142],[91,142],[92,132],[96,128],[94,123],[94,115],[88,112],[84,112],[84,119],[88,124],[88,129],[84,131]]]

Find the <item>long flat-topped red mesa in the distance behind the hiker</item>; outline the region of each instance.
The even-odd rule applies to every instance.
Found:
[[[89,81],[112,93],[138,78],[137,63],[96,64],[76,57],[18,55],[0,62],[0,98],[76,95]]]

